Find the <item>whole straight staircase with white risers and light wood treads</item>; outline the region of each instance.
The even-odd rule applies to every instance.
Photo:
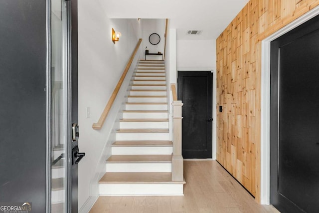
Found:
[[[120,120],[100,195],[183,195],[172,181],[164,61],[141,60]]]

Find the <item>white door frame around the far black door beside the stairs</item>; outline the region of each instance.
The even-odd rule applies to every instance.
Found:
[[[216,126],[216,119],[217,119],[217,93],[216,93],[216,85],[217,85],[217,78],[216,78],[216,68],[215,67],[209,67],[209,68],[203,68],[203,67],[191,67],[191,68],[177,68],[176,69],[176,82],[177,82],[177,76],[178,76],[178,72],[179,71],[210,71],[213,74],[213,100],[212,100],[212,110],[213,110],[213,114],[212,114],[212,118],[213,118],[213,131],[212,131],[212,160],[216,160],[216,146],[217,146],[217,134],[216,134],[216,130],[217,130],[217,126]],[[178,82],[177,82],[177,86],[178,86]],[[191,159],[184,159],[184,160],[191,160]],[[197,159],[200,160],[200,159]]]

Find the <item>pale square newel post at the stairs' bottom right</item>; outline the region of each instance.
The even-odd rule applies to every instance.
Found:
[[[173,101],[173,156],[172,156],[172,181],[184,180],[184,162],[181,155],[181,101]]]

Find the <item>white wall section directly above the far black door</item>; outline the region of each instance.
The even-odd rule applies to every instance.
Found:
[[[216,40],[177,40],[177,69],[216,67]]]

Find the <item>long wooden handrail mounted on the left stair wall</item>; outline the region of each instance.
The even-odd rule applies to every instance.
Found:
[[[135,47],[135,49],[134,49],[134,51],[133,51],[133,53],[131,55],[131,58],[130,58],[129,62],[127,63],[127,65],[126,65],[126,67],[125,67],[125,69],[123,71],[123,74],[122,74],[118,84],[116,85],[116,87],[115,87],[115,89],[114,89],[114,91],[113,91],[108,103],[106,104],[106,106],[105,106],[105,108],[104,108],[104,110],[103,110],[103,112],[102,112],[102,114],[100,116],[99,121],[92,125],[93,129],[101,129],[102,128],[102,126],[104,124],[104,121],[105,121],[106,117],[108,116],[108,114],[110,112],[110,109],[111,109],[111,107],[112,107],[112,105],[113,105],[113,103],[115,101],[115,98],[116,98],[117,94],[119,93],[119,90],[120,90],[120,88],[122,86],[122,83],[123,83],[123,81],[125,79],[125,76],[126,76],[126,74],[128,73],[128,71],[129,71],[129,69],[131,67],[131,64],[132,64],[132,62],[134,60],[134,57],[135,57],[136,53],[138,52],[138,49],[139,49],[139,47],[141,45],[141,42],[142,42],[142,38],[140,38],[139,42],[137,43],[137,45],[136,45],[136,47]]]

